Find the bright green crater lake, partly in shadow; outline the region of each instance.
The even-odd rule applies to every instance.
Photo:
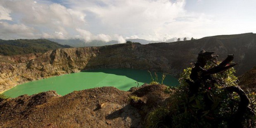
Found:
[[[161,83],[162,73],[157,73],[159,83]],[[154,73],[152,72],[154,77]],[[120,90],[129,90],[137,87],[137,83],[143,85],[151,82],[148,71],[135,69],[97,69],[79,73],[71,73],[62,76],[55,76],[38,81],[31,81],[5,91],[3,94],[9,97],[19,95],[33,95],[48,90],[56,90],[59,95],[66,95],[74,90],[84,90],[89,88],[113,86]],[[178,85],[178,79],[166,75],[164,84],[168,86]]]

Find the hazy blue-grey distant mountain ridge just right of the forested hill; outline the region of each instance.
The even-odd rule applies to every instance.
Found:
[[[111,40],[109,42],[104,42],[102,40],[92,40],[90,42],[85,42],[85,40],[82,40],[82,39],[67,39],[67,40],[47,39],[47,40],[51,40],[62,45],[69,45],[72,47],[97,47],[97,46],[118,44],[117,40]]]

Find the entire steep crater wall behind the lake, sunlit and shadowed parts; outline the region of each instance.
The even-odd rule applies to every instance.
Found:
[[[215,51],[219,60],[235,54],[237,75],[256,65],[256,34],[214,36],[173,43],[126,43],[102,47],[66,48],[45,52],[21,63],[0,62],[0,91],[32,80],[81,70],[131,68],[170,73],[173,76],[195,62],[201,50]],[[15,58],[9,59],[15,62]]]

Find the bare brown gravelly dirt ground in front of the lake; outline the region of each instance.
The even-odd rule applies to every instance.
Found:
[[[145,116],[167,97],[165,85],[142,85],[121,91],[114,87],[22,95],[0,102],[1,128],[141,128]],[[140,97],[132,104],[129,97]]]

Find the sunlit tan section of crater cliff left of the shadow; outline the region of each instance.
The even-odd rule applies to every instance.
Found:
[[[97,52],[95,47],[57,49],[24,63],[0,62],[0,91],[27,81],[78,72]]]

